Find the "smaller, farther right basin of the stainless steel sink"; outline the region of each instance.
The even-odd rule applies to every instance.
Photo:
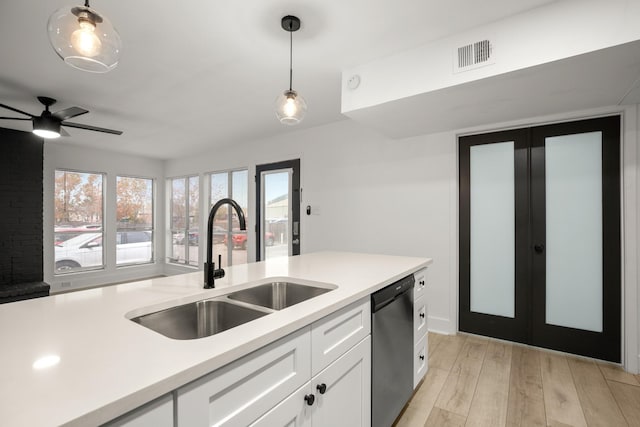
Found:
[[[273,310],[282,310],[330,290],[291,282],[271,282],[230,293],[227,297]]]

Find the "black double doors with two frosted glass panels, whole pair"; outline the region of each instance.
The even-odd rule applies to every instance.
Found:
[[[461,331],[620,361],[620,118],[461,137]]]

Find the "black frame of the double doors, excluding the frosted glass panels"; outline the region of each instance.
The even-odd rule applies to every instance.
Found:
[[[459,138],[459,330],[620,362],[624,339],[621,336],[620,123],[621,116],[612,115]],[[539,185],[544,183],[545,138],[593,131],[602,131],[603,147],[602,333],[546,324],[546,267],[544,257],[533,250],[534,245],[546,243],[544,219],[540,220],[545,212],[544,185]],[[473,145],[502,141],[514,141],[515,148],[514,319],[470,310],[469,150]],[[518,172],[518,166],[524,169]]]

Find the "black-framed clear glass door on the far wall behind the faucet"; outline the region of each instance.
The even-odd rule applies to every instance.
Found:
[[[256,261],[300,254],[300,159],[256,166]]]

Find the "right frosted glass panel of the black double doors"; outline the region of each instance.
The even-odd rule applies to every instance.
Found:
[[[602,332],[602,133],[545,139],[546,322]]]

